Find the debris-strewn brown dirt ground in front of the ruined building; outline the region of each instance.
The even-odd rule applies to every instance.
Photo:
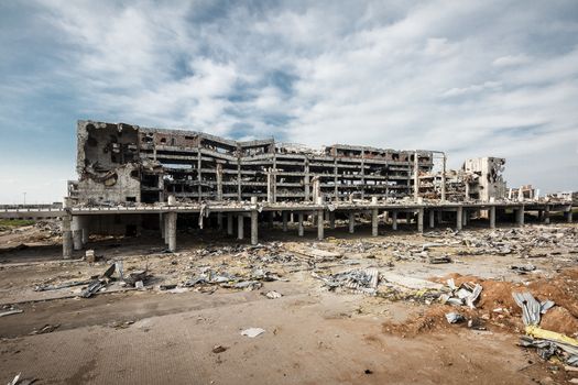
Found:
[[[100,258],[89,264],[84,252],[57,260],[59,239],[46,228],[0,232],[0,312],[22,310],[0,317],[0,382],[18,373],[36,384],[566,384],[578,377],[517,345],[523,323],[512,298],[528,290],[554,300],[541,326],[576,337],[578,226],[491,231],[472,223],[461,233],[436,228],[424,235],[402,227],[371,238],[368,227],[351,235],[338,223],[324,242],[314,240],[313,228],[305,239],[295,233],[263,228],[262,246],[251,248],[214,230],[190,230],[178,234],[177,253],[164,253],[155,233],[91,239],[88,248]],[[429,263],[438,256],[450,262]],[[90,298],[80,296],[87,285],[35,290],[97,277],[118,261],[124,276],[146,268],[142,289],[116,272]],[[512,270],[527,264],[534,270],[526,274]],[[375,293],[330,289],[324,280],[372,268],[381,277]],[[274,280],[255,278],[257,271]],[[229,284],[187,287],[206,272],[229,274]],[[254,285],[228,287],[233,276]],[[454,278],[483,289],[469,309],[443,305],[397,278],[443,286]],[[176,288],[160,288],[168,284]],[[272,290],[282,297],[268,298]],[[476,327],[448,323],[449,311]],[[264,332],[242,336],[248,328]]]

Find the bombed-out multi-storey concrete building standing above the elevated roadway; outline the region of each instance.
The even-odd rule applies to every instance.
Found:
[[[78,204],[249,200],[270,202],[412,196],[430,151],[335,144],[321,151],[273,139],[238,142],[201,132],[78,122]],[[314,188],[316,189],[314,191]]]

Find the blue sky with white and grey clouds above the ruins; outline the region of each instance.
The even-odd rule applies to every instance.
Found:
[[[78,119],[506,157],[578,189],[577,1],[2,1],[0,202],[61,200]]]

